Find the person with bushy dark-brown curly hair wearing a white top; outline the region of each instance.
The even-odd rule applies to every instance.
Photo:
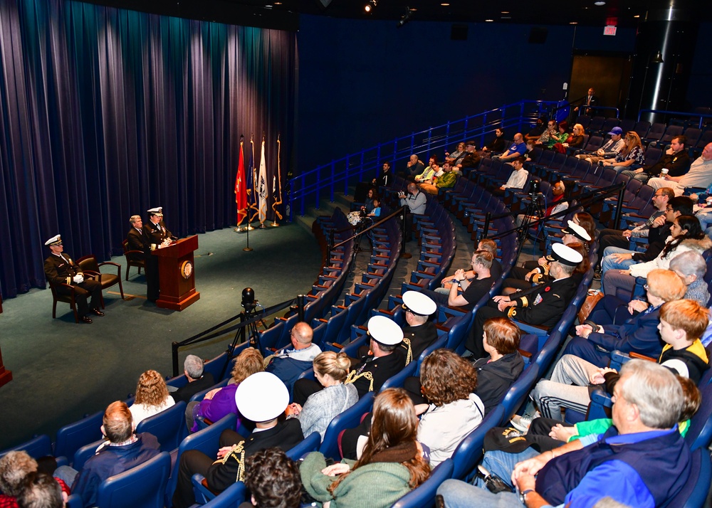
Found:
[[[418,440],[430,448],[430,465],[452,457],[466,435],[482,423],[485,406],[473,392],[475,368],[449,349],[436,349],[420,367],[422,392],[430,404],[418,404],[422,414]]]

